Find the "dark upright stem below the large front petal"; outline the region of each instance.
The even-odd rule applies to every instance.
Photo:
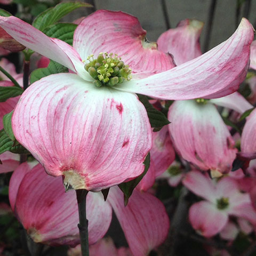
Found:
[[[76,198],[79,213],[79,234],[81,240],[82,256],[89,256],[89,240],[88,240],[88,220],[86,219],[86,189],[77,189]]]

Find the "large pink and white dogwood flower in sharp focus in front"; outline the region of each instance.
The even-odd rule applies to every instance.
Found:
[[[174,67],[170,54],[147,41],[138,19],[122,12],[99,10],[86,17],[75,30],[73,47],[15,17],[1,17],[0,26],[22,45],[72,71],[42,78],[22,94],[12,117],[15,137],[47,173],[64,175],[66,187],[93,191],[143,172],[151,129],[135,93],[174,100],[230,94],[246,75],[253,40],[251,24],[242,19],[227,41]],[[118,54],[132,74],[117,57],[113,61],[105,55],[109,64],[123,68],[110,81],[108,75],[116,71],[107,62],[98,69],[102,52]],[[90,72],[84,68],[87,57]]]

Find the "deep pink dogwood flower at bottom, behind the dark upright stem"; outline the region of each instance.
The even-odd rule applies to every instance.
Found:
[[[41,164],[31,169],[30,163],[22,163],[14,171],[9,199],[13,212],[35,242],[72,246],[79,243],[76,193],[65,193],[62,178],[47,175]],[[168,233],[169,218],[164,205],[137,189],[126,207],[123,200],[117,186],[110,188],[106,202],[101,192],[87,194],[89,244],[105,235],[114,210],[133,255],[148,255]]]

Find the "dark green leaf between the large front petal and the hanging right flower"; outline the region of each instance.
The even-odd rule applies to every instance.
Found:
[[[138,94],[139,100],[145,106],[149,118],[151,127],[162,128],[166,124],[170,124],[170,121],[166,116],[159,110],[155,109],[148,101],[145,95]]]

